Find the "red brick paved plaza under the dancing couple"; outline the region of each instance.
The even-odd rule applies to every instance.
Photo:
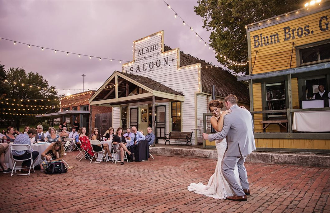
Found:
[[[247,202],[217,200],[189,192],[207,183],[215,160],[154,156],[124,165],[66,160],[61,175],[0,174],[0,212],[330,212],[330,170],[246,163]]]

